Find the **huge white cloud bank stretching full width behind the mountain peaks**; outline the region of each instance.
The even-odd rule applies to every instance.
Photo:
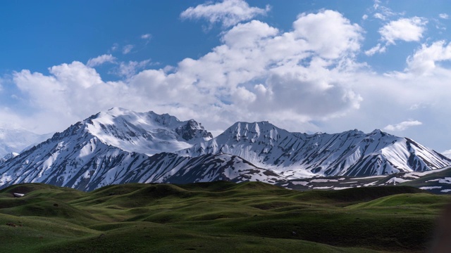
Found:
[[[194,118],[209,130],[238,120],[326,132],[377,126],[402,131],[424,122],[407,129],[409,135],[416,133],[412,137],[426,145],[441,141],[440,150],[449,149],[451,70],[444,61],[451,60],[451,46],[424,44],[408,58],[404,72],[384,75],[356,62],[363,35],[340,13],[320,11],[299,15],[288,31],[258,20],[242,22],[221,33],[221,44],[209,53],[173,67],[116,60],[114,74],[123,76],[117,82],[105,82],[88,63],[57,65],[47,74],[22,70],[4,82],[2,94],[15,84],[7,95],[14,94],[14,103],[30,110],[21,109],[26,111],[21,116],[17,110],[0,110],[0,121],[61,131],[121,106]],[[373,51],[385,46],[381,42]],[[416,120],[392,124],[400,118]]]

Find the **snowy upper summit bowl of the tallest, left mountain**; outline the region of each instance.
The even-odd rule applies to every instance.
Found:
[[[147,155],[175,152],[213,137],[194,119],[180,122],[168,114],[134,112],[123,108],[99,112],[81,124],[89,134],[107,145]]]

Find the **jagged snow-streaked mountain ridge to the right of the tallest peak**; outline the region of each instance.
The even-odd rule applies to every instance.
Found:
[[[381,130],[364,134],[290,133],[268,122],[237,122],[223,134],[180,155],[228,153],[290,179],[306,176],[373,176],[428,171],[451,160],[412,141]]]

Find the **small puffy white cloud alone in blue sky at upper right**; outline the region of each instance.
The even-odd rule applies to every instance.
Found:
[[[395,41],[419,41],[426,30],[427,20],[424,18],[400,18],[390,21],[379,30],[384,41],[395,44]]]

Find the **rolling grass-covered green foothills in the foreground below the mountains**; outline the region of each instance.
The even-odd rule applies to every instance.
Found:
[[[450,200],[409,186],[23,184],[0,190],[0,252],[424,252]]]

